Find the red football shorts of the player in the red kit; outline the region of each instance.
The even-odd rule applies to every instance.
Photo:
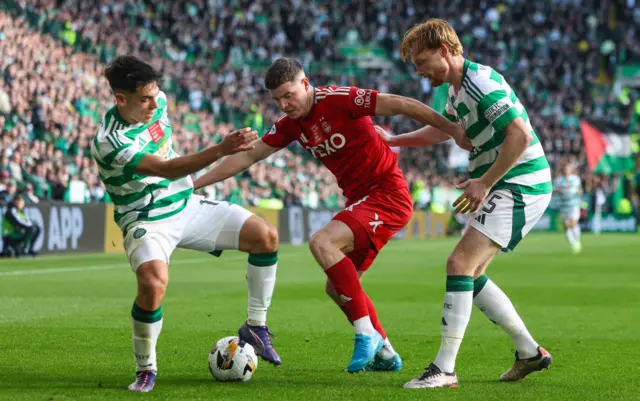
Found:
[[[413,200],[409,188],[395,190],[374,189],[368,195],[333,217],[353,232],[354,247],[347,257],[356,269],[366,271],[378,252],[409,223],[413,214]]]

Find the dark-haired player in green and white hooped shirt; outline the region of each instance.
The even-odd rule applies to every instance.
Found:
[[[268,362],[279,365],[266,326],[275,284],[278,232],[240,206],[193,194],[193,174],[223,156],[253,149],[255,131],[244,128],[201,152],[179,157],[172,147],[162,76],[133,56],[105,69],[116,105],[91,144],[102,180],[114,203],[124,248],[136,274],[133,318],[136,380],[129,390],[151,391],[157,375],[156,342],[162,329],[162,300],[175,248],[216,256],[224,249],[249,253],[248,318],[239,337]]]

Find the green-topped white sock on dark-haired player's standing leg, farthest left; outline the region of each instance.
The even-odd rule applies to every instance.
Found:
[[[156,344],[162,331],[162,308],[149,312],[134,304],[131,315],[133,357],[136,361],[136,372],[158,370]]]

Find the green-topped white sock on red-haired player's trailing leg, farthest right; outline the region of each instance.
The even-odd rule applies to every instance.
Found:
[[[526,359],[538,355],[538,343],[529,334],[506,294],[486,275],[478,277],[475,284],[473,304],[511,337],[518,357]]]

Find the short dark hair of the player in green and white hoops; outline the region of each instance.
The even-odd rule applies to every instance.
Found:
[[[126,92],[135,92],[140,87],[162,79],[162,73],[139,58],[129,55],[113,60],[105,68],[104,76],[109,81],[111,90]]]

